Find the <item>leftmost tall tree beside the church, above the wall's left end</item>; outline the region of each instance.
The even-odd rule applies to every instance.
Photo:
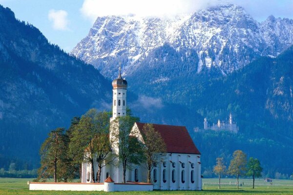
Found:
[[[54,177],[54,182],[60,179],[60,169],[66,158],[64,128],[57,128],[49,133],[48,138],[43,142],[40,155],[41,167],[38,170],[38,178],[46,180],[48,177]]]

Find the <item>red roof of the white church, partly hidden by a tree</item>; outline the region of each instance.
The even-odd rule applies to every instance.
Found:
[[[146,123],[136,122],[140,132]],[[200,155],[189,133],[184,126],[152,124],[164,139],[168,153],[183,153]]]

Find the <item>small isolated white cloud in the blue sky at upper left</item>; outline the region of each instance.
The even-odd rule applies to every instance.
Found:
[[[48,19],[52,22],[55,30],[69,30],[67,15],[67,12],[64,10],[51,9],[48,13]]]

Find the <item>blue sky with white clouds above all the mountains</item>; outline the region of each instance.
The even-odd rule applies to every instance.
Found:
[[[171,17],[227,1],[257,21],[270,15],[293,19],[293,0],[0,0],[17,19],[33,24],[66,52],[83,39],[99,16]]]

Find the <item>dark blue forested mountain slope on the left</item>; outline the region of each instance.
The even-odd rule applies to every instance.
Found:
[[[50,130],[90,107],[105,109],[110,97],[110,82],[93,66],[0,6],[0,167],[18,158],[36,168]]]

